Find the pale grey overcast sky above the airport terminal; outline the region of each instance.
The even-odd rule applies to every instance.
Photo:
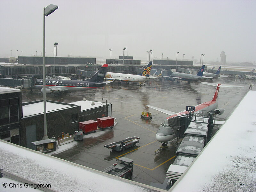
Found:
[[[252,0],[1,0],[0,57],[43,52],[43,8],[59,8],[45,18],[45,52],[51,56],[220,61],[256,60],[256,1]],[[12,52],[10,51],[12,50]],[[18,52],[16,52],[18,50]],[[37,51],[37,53],[36,53]],[[54,53],[53,53],[54,56]]]

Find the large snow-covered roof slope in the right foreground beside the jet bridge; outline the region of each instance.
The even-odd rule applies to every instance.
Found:
[[[244,96],[170,191],[256,191],[255,98]]]

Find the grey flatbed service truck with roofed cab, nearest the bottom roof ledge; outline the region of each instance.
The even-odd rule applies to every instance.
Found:
[[[133,160],[126,157],[121,157],[117,159],[117,163],[109,166],[102,172],[131,180],[133,172]]]

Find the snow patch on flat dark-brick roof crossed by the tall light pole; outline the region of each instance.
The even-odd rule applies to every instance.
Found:
[[[52,112],[55,110],[70,108],[74,106],[75,105],[70,105],[67,103],[50,102],[46,100],[46,112]],[[36,102],[23,103],[22,111],[23,117],[44,113],[44,102],[43,100],[40,100]]]

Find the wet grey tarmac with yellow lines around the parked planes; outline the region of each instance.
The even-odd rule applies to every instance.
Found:
[[[242,85],[244,88],[220,88],[218,106],[225,108],[217,120],[226,120],[236,107],[238,102],[249,90],[252,81],[223,78],[212,80],[213,83]],[[252,90],[255,90],[255,86]],[[187,84],[171,83],[169,81],[152,81],[146,86],[125,85],[111,83],[104,88],[93,89],[86,92],[74,92],[63,96],[48,96],[48,100],[61,100],[63,102],[74,102],[86,100],[109,102],[112,104],[112,116],[118,124],[113,129],[98,130],[96,133],[85,135],[83,141],[75,141],[77,145],[60,154],[53,155],[77,164],[81,164],[96,170],[103,170],[111,164],[116,163],[117,157],[127,157],[134,160],[133,181],[144,184],[150,182],[163,183],[166,171],[175,160],[177,150],[175,142],[168,142],[169,148],[155,152],[161,143],[156,141],[155,135],[159,125],[167,117],[146,105],[164,108],[173,112],[180,112],[186,106],[195,106],[212,99],[215,87],[200,84],[199,82]],[[41,92],[24,92],[23,101],[41,100]],[[142,111],[152,113],[152,120],[140,118]],[[218,127],[215,127],[215,132]],[[100,134],[98,134],[100,133]],[[93,134],[99,136],[95,137]],[[123,140],[127,137],[138,136],[139,144],[136,147],[128,148],[125,151],[116,152],[104,148],[104,145],[114,141]]]

